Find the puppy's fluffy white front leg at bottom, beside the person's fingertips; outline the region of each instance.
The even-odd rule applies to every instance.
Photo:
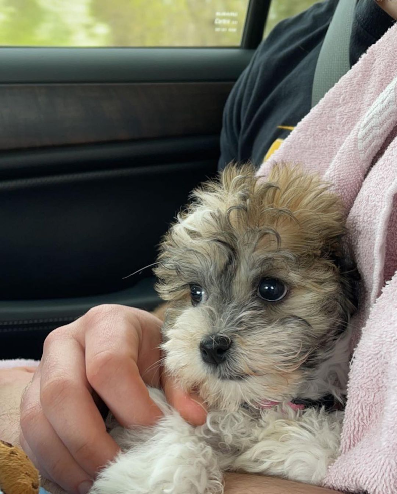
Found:
[[[158,391],[155,393],[158,402]],[[152,393],[151,393],[152,395]],[[153,398],[153,395],[152,395]],[[163,407],[164,410],[164,407]],[[169,407],[154,427],[112,435],[123,453],[98,476],[90,494],[220,494],[216,455],[195,429]]]

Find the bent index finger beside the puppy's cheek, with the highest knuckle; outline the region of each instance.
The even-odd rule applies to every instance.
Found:
[[[154,424],[162,413],[145,382],[160,381],[161,321],[117,305],[98,307],[94,316],[81,342],[88,382],[121,425]]]

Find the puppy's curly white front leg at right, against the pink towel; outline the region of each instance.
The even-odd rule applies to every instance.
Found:
[[[320,485],[339,454],[343,412],[277,407],[261,415],[251,447],[236,457],[231,470]]]

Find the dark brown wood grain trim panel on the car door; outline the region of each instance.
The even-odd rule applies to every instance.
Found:
[[[0,150],[216,134],[232,86],[1,85]]]

